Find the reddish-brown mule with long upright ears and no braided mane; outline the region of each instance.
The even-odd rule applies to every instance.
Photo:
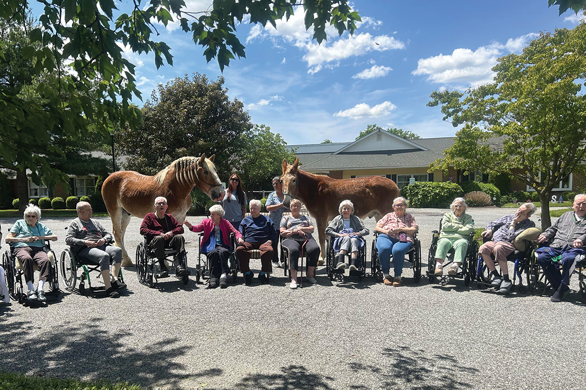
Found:
[[[381,176],[359,177],[355,179],[332,179],[323,175],[314,175],[298,169],[299,158],[295,163],[287,164],[283,160],[283,194],[284,205],[289,207],[293,198],[301,199],[309,214],[315,218],[319,233],[319,246],[325,258],[325,230],[335,216],[338,206],[345,199],[354,203],[354,214],[360,219],[374,217],[377,221],[383,215],[393,211],[393,200],[399,195],[394,181]]]

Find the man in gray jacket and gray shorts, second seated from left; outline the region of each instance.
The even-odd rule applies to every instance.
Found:
[[[88,202],[78,202],[77,218],[67,228],[65,243],[71,247],[77,257],[100,264],[106,294],[110,298],[118,298],[117,289],[126,285],[120,277],[122,249],[112,246],[114,237],[95,219],[91,219],[92,209]],[[113,279],[110,279],[110,263],[112,263]]]

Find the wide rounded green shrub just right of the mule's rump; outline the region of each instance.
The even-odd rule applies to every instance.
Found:
[[[451,182],[416,181],[401,189],[411,207],[447,208],[450,203],[462,196],[462,187]]]

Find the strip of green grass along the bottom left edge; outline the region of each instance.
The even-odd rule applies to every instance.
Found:
[[[29,377],[12,372],[0,372],[1,390],[141,390],[138,385],[105,381],[83,382],[77,379]]]

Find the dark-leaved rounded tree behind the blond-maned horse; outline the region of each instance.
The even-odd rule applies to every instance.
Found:
[[[242,146],[242,134],[253,125],[238,99],[230,101],[224,78],[193,74],[159,84],[142,108],[138,131],[117,132],[125,168],[153,175],[179,157],[216,155],[220,178],[229,174]]]

